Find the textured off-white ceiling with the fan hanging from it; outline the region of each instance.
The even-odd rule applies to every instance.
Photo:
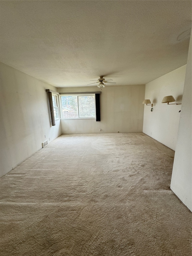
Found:
[[[56,87],[148,83],[187,63],[191,1],[0,1],[0,61]]]

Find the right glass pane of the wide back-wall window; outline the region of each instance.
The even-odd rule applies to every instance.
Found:
[[[79,117],[95,117],[95,96],[79,97]]]

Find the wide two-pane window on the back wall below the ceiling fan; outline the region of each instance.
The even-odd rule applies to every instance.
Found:
[[[95,118],[95,95],[61,96],[62,118]]]

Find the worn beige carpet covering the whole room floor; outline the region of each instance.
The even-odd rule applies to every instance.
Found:
[[[61,135],[0,179],[0,255],[191,256],[173,159],[143,133]]]

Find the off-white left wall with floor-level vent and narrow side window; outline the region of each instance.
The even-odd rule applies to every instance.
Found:
[[[60,120],[51,126],[45,89],[56,90],[0,62],[0,176],[61,134]],[[46,134],[46,139],[45,139]],[[51,140],[49,141],[49,137]]]

